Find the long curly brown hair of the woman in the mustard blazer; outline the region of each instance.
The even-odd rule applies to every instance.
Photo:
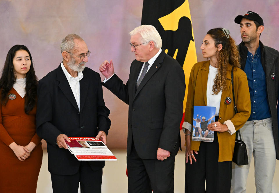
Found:
[[[206,34],[210,35],[215,42],[215,47],[218,48],[219,44],[222,44],[223,48],[219,51],[218,59],[218,73],[214,79],[214,86],[212,91],[214,94],[218,94],[221,90],[227,89],[227,69],[228,64],[233,67],[240,68],[240,56],[235,44],[235,40],[227,38],[222,28],[214,28],[209,30]],[[217,53],[217,52],[216,52]]]

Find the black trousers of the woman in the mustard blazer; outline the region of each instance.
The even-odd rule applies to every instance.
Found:
[[[232,161],[218,162],[219,143],[217,132],[214,142],[201,142],[197,162],[186,163],[185,193],[230,193]]]

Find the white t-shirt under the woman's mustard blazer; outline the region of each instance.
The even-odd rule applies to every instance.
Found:
[[[206,87],[206,100],[207,100],[208,107],[216,107],[215,115],[219,116],[222,91],[220,91],[217,95],[213,94],[212,91],[212,88],[214,86],[214,79],[217,73],[218,73],[218,68],[214,68],[213,66],[209,65],[207,87]]]

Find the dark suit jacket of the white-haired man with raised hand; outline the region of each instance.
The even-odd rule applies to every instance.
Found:
[[[158,147],[177,154],[183,116],[185,76],[178,62],[164,50],[157,57],[136,90],[142,62],[134,60],[128,82],[113,75],[103,86],[129,104],[127,153],[132,140],[142,159],[155,159]]]

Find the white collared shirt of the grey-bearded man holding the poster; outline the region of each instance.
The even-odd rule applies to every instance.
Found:
[[[76,99],[76,104],[78,105],[78,109],[80,110],[80,87],[79,87],[79,81],[83,78],[83,73],[82,72],[78,72],[78,76],[77,77],[72,77],[68,71],[66,70],[65,66],[63,65],[63,62],[61,62],[61,68],[64,72],[64,74],[66,75],[66,78],[69,82],[69,85],[72,89],[72,92],[74,94],[74,97]]]

